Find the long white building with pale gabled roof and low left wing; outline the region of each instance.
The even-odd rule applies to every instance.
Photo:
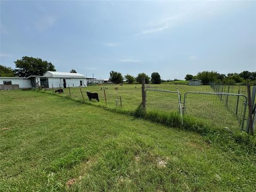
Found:
[[[79,73],[63,73],[47,71],[43,76],[31,75],[29,77],[0,77],[0,89],[9,89],[11,85],[19,85],[20,89],[43,86],[51,87],[78,87],[87,86],[86,77]]]

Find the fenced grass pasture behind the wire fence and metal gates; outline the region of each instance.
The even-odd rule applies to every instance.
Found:
[[[60,87],[63,89],[63,86]],[[49,91],[55,92],[58,89],[59,87],[50,88]],[[161,111],[167,114],[177,113],[179,116],[193,116],[218,127],[228,127],[228,129],[236,131],[240,129],[246,130],[248,112],[248,107],[245,105],[247,103],[246,87],[229,86],[228,94],[228,85],[223,86],[223,92],[220,92],[223,94],[217,94],[219,89],[222,90],[222,87],[213,87],[212,85],[145,85],[146,111]],[[79,85],[70,87],[67,85],[67,88],[63,90],[63,95],[80,101],[89,101],[86,91],[98,93],[99,102],[92,99],[95,105],[103,105],[108,108],[117,107],[131,112],[137,110],[142,103],[141,84],[87,87],[79,87]],[[238,90],[240,90],[240,95],[237,95]]]

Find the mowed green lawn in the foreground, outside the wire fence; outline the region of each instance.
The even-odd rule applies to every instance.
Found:
[[[198,134],[35,91],[0,100],[0,191],[256,188],[252,158]]]

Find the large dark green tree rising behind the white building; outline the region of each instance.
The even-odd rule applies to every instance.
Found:
[[[40,58],[22,57],[14,61],[17,69],[14,69],[18,77],[28,77],[30,75],[44,75],[46,71],[56,71],[51,62],[43,61]]]

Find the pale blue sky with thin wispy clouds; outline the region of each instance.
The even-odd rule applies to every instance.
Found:
[[[256,1],[1,1],[0,64],[106,79],[256,71]]]

